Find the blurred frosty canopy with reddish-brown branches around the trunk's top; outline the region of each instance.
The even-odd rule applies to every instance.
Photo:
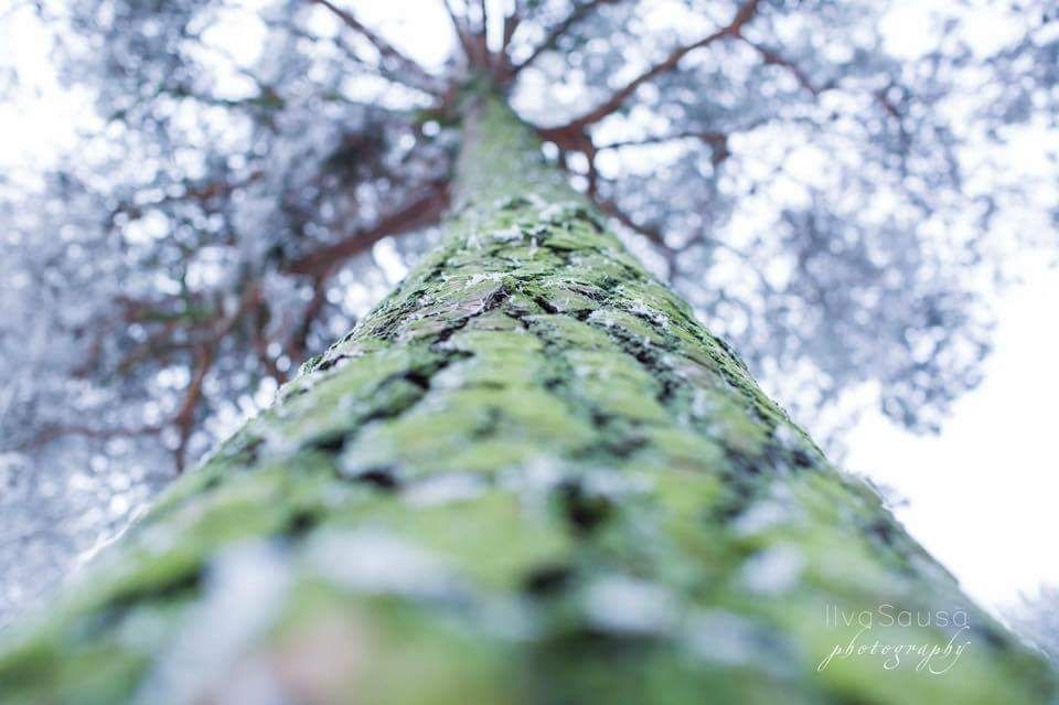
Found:
[[[865,404],[937,429],[980,381],[1006,258],[1053,256],[1053,171],[1013,159],[1059,115],[1045,0],[403,3],[427,34],[379,4],[4,11],[94,107],[56,165],[0,178],[0,613],[432,242],[471,76],[817,437]]]

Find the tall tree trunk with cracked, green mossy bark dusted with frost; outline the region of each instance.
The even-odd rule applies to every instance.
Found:
[[[443,242],[9,638],[0,702],[1055,697],[500,99],[467,113]]]

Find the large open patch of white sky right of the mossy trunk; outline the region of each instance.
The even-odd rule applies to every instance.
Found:
[[[940,436],[871,414],[846,439],[847,467],[908,499],[898,517],[993,608],[1059,585],[1059,271],[1027,263],[1025,277],[996,306],[985,382]]]

